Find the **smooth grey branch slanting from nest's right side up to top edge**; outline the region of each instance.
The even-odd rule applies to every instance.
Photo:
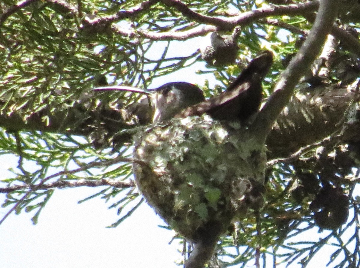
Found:
[[[322,0],[314,26],[299,52],[291,60],[288,67],[275,85],[274,93],[265,103],[253,124],[254,132],[258,133],[259,142],[264,142],[274,125],[276,117],[288,104],[296,84],[319,54],[332,28],[338,10],[336,0]]]

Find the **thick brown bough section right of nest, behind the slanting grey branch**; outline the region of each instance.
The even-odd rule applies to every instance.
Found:
[[[342,128],[338,122],[355,93],[333,86],[310,90],[309,93],[296,94],[278,116],[266,139],[269,159],[287,157]],[[354,130],[354,133],[358,132]]]

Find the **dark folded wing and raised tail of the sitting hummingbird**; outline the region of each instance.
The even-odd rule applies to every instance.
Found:
[[[216,120],[245,121],[256,113],[262,100],[262,85],[273,63],[273,53],[266,51],[253,59],[229,88],[221,94],[190,106],[175,117],[207,113]]]

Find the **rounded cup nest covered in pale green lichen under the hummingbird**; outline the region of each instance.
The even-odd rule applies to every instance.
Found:
[[[264,184],[265,147],[238,122],[187,117],[135,137],[136,183],[150,206],[184,237],[246,213]],[[140,164],[139,164],[140,163]]]

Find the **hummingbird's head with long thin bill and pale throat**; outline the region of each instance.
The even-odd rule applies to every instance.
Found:
[[[154,107],[153,122],[170,120],[181,110],[205,100],[203,91],[188,82],[170,82],[149,90],[131,86],[102,86],[94,90],[122,90],[146,94],[149,105]]]

